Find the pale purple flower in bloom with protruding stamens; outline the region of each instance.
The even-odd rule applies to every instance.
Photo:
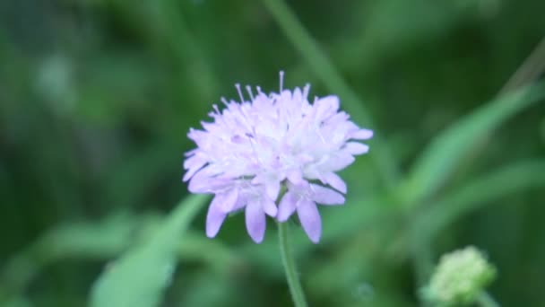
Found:
[[[346,184],[335,173],[367,153],[373,132],[362,129],[339,110],[339,98],[307,100],[302,90],[282,89],[266,95],[247,86],[246,101],[221,99],[203,130],[191,129],[197,148],[186,153],[184,181],[192,193],[213,194],[206,216],[206,235],[214,237],[232,212],[245,210],[247,232],[255,242],[264,239],[266,216],[285,222],[297,212],[313,242],[320,240],[322,222],[316,204],[342,205]],[[329,188],[329,187],[331,188]],[[282,193],[277,208],[277,198]],[[333,188],[333,189],[332,189]]]

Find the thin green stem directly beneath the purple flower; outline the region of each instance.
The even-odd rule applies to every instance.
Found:
[[[295,307],[307,307],[307,301],[305,300],[305,294],[301,287],[301,283],[298,279],[297,268],[295,266],[295,259],[293,259],[293,253],[290,249],[290,242],[288,241],[288,223],[278,223],[278,236],[280,239],[280,252],[282,258],[282,265],[286,272],[286,279],[288,279],[288,285],[290,286],[291,300]]]

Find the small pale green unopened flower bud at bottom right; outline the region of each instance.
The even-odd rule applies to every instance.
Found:
[[[439,305],[471,304],[496,276],[496,268],[470,246],[441,257],[422,294]]]

